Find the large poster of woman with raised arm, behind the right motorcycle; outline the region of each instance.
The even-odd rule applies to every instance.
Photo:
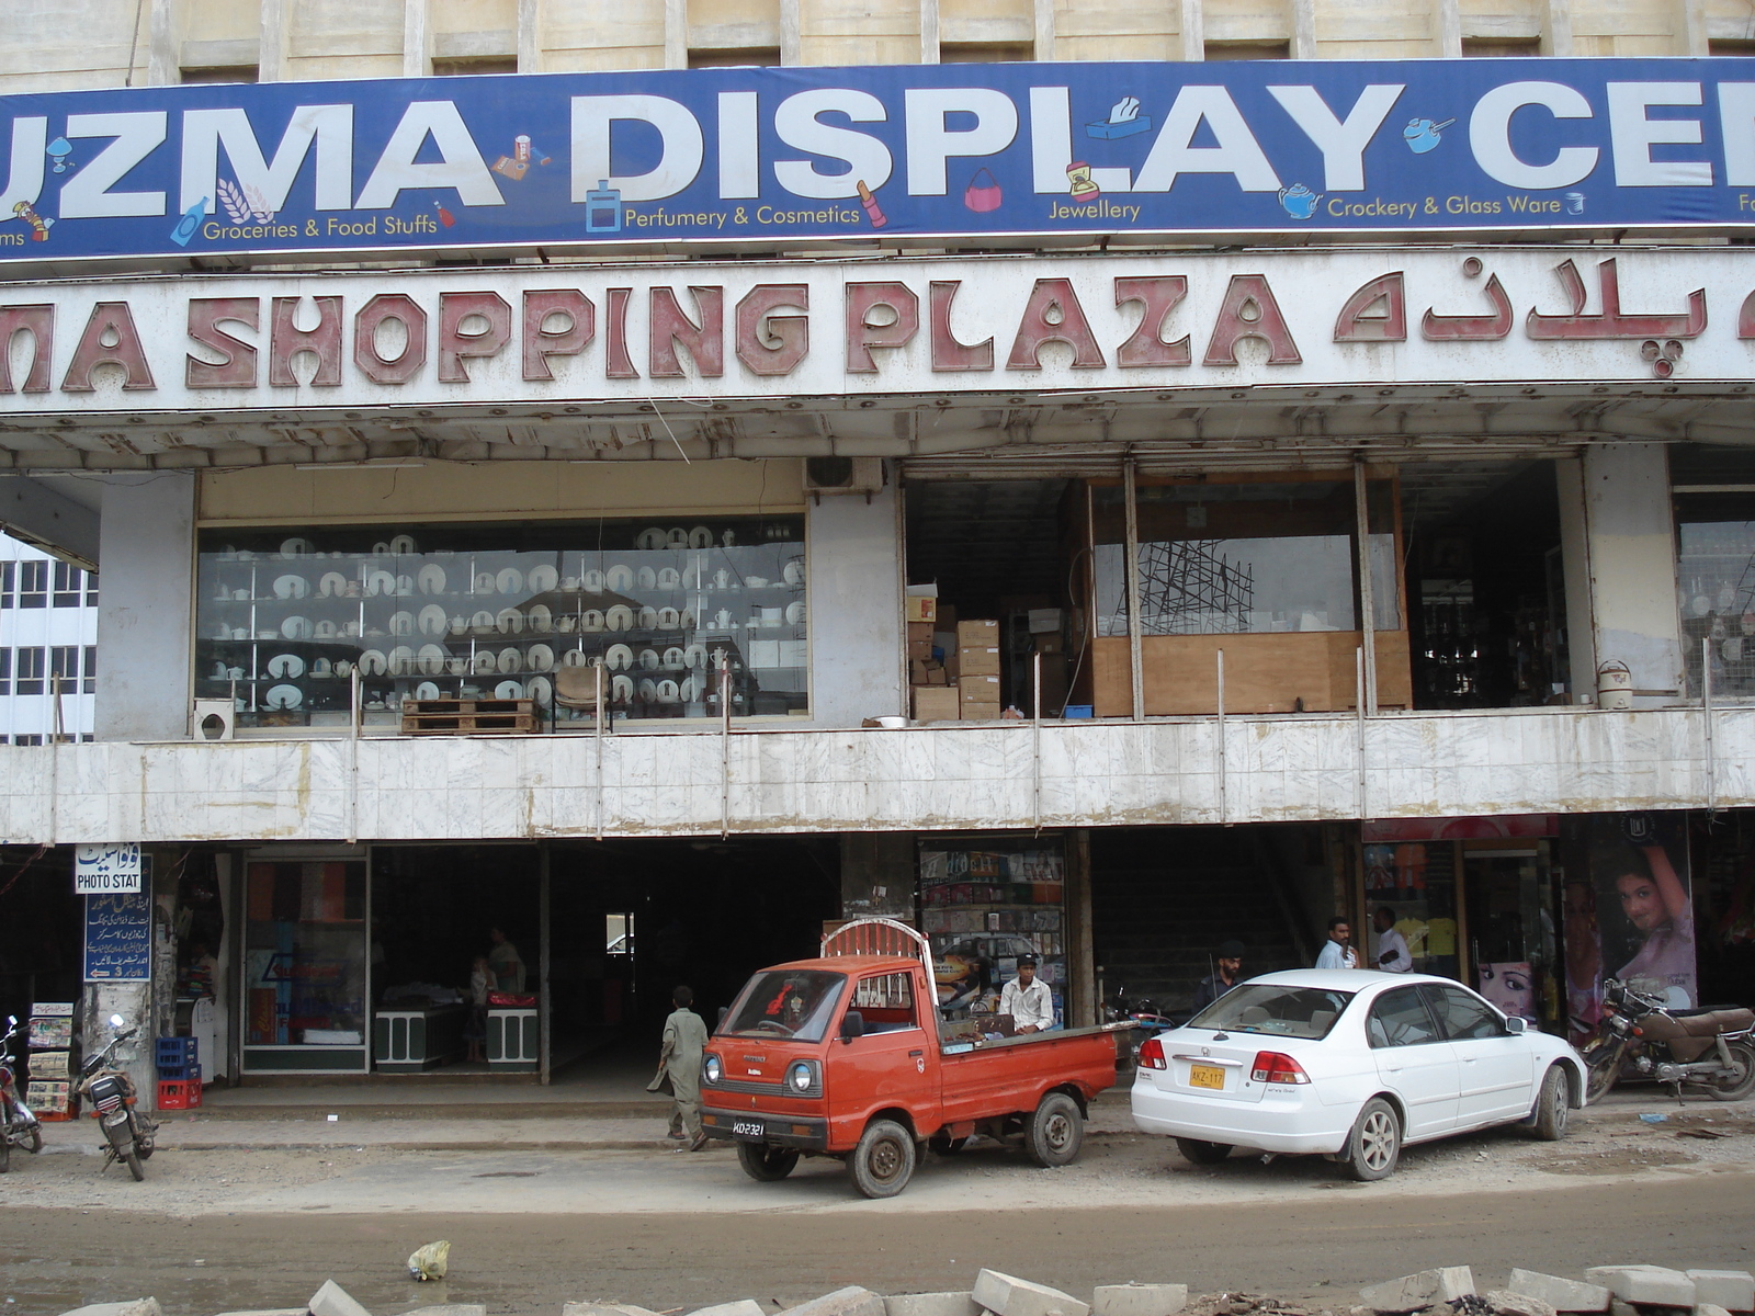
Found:
[[[1567,993],[1592,986],[1587,953],[1572,944],[1574,926],[1597,933],[1595,995],[1615,977],[1664,997],[1673,1007],[1697,1002],[1694,905],[1688,890],[1688,828],[1683,814],[1597,814],[1585,828],[1590,856],[1587,891],[1567,891]],[[1580,905],[1574,914],[1574,905]],[[1576,967],[1574,967],[1576,965]],[[1578,1014],[1578,1009],[1572,1009]]]

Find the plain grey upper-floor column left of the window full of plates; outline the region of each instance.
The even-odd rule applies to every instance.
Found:
[[[104,486],[98,740],[183,740],[190,733],[193,549],[193,476],[114,476]]]

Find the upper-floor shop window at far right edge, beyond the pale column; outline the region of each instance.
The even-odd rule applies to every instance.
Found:
[[[1746,495],[1676,497],[1676,593],[1688,695],[1702,693],[1702,640],[1713,695],[1755,695],[1755,511]]]

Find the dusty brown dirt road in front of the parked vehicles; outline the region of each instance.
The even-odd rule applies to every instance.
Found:
[[[669,1311],[756,1297],[772,1309],[849,1283],[967,1288],[983,1265],[1074,1293],[1160,1279],[1316,1314],[1425,1265],[1467,1263],[1485,1284],[1513,1265],[1750,1269],[1755,1104],[1660,1125],[1643,1109],[1594,1107],[1558,1144],[1494,1130],[1411,1148],[1381,1184],[1350,1184],[1313,1158],[1192,1167],[1165,1139],[1093,1130],[1062,1170],[992,1146],[928,1156],[907,1193],[881,1204],[851,1195],[834,1163],[751,1183],[728,1148],[384,1141],[412,1125],[377,1125],[377,1142],[360,1128],[347,1146],[333,1125],[311,1125],[335,1141],[237,1149],[200,1146],[191,1126],[135,1184],[98,1176],[68,1141],[14,1156],[0,1179],[0,1316],[147,1293],[170,1316],[286,1307],[330,1276],[376,1316],[444,1300],[546,1316],[576,1298]],[[451,1279],[416,1286],[402,1262],[432,1239],[455,1244]]]

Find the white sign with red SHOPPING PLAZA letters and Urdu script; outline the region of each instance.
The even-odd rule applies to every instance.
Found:
[[[512,267],[14,284],[0,412],[1755,374],[1750,247]]]

